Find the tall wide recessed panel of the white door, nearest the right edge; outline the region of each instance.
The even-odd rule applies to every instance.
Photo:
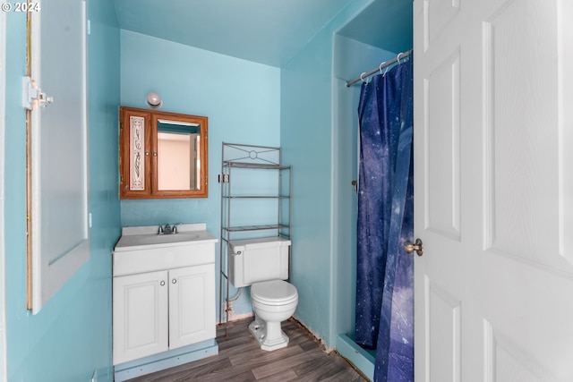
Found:
[[[483,119],[485,248],[558,269],[560,132],[552,128],[558,125],[558,72],[546,71],[540,58],[554,60],[558,51],[556,14],[555,3],[509,1],[484,23]],[[543,28],[523,33],[524,20]],[[540,106],[543,114],[536,112]],[[518,133],[508,129],[512,124],[520,126]]]

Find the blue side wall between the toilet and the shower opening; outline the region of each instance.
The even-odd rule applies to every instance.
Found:
[[[356,1],[348,5],[281,73],[280,138],[285,162],[294,166],[292,282],[299,291],[295,316],[329,348],[334,346],[338,334],[339,234],[344,235],[343,242],[352,241],[351,233],[336,231],[335,221],[339,208],[335,187],[346,180],[346,187],[350,187],[351,174],[344,174],[344,181],[339,180],[333,38],[336,30],[368,3]],[[351,153],[352,139],[346,144],[345,153]],[[346,214],[350,213],[351,208]]]

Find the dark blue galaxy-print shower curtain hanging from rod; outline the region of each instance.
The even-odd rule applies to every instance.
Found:
[[[414,380],[412,59],[363,83],[355,342],[376,349],[374,381]]]

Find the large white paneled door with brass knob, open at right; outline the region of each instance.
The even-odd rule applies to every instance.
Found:
[[[415,1],[416,382],[573,381],[572,21]]]

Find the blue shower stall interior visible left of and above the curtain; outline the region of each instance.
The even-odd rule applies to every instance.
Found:
[[[375,43],[373,41],[375,38],[369,40],[353,33],[357,25],[364,25],[372,15],[398,12],[398,6],[402,6],[399,14],[404,17],[397,18],[396,21],[392,22],[401,22],[399,28],[392,22],[379,22],[377,26],[372,26],[373,30],[370,32],[372,36],[378,35],[379,40],[386,39],[386,44]],[[380,46],[385,48],[380,48]],[[384,62],[396,61],[398,53],[406,52],[411,47],[411,2],[397,2],[392,6],[389,6],[388,2],[374,2],[364,9],[363,13],[357,15],[354,20],[349,21],[345,27],[338,30],[334,38],[333,151],[335,155],[333,156],[333,168],[335,174],[333,189],[335,191],[333,203],[337,208],[334,208],[333,217],[335,222],[333,227],[335,232],[333,239],[335,274],[333,277],[337,280],[334,291],[334,316],[335,327],[338,332],[335,346],[341,355],[351,361],[371,380],[374,379],[376,351],[355,343],[356,224],[358,219],[356,188],[359,166],[358,106],[363,81],[357,81],[350,87],[346,87],[346,82],[359,78],[361,73],[367,73],[372,68],[380,69]],[[380,73],[383,74],[385,71],[386,68],[382,65]],[[364,81],[371,80],[364,78]]]

